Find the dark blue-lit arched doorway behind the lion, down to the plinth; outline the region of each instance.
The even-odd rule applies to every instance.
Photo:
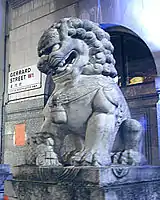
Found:
[[[158,131],[154,80],[156,65],[145,42],[133,31],[123,26],[101,24],[111,36],[118,71],[118,84],[129,104],[132,117],[144,129],[142,151],[148,163],[159,165]]]

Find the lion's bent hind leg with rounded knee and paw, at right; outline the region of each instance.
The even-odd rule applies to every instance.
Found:
[[[146,162],[141,153],[142,126],[134,119],[125,120],[120,127],[121,151],[114,151],[114,164],[140,165]]]

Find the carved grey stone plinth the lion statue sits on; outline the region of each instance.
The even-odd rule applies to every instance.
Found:
[[[20,166],[13,175],[18,200],[160,200],[160,167]]]

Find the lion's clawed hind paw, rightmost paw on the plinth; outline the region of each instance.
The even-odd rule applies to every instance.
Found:
[[[123,165],[142,165],[146,163],[146,159],[140,152],[129,149],[114,153],[112,155],[112,163]]]

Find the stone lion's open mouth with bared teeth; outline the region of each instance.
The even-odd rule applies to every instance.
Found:
[[[76,58],[77,52],[74,50],[71,51],[61,62],[58,63],[58,65],[56,66],[56,73],[59,74],[67,70],[67,68],[70,68],[71,65],[75,63]]]

